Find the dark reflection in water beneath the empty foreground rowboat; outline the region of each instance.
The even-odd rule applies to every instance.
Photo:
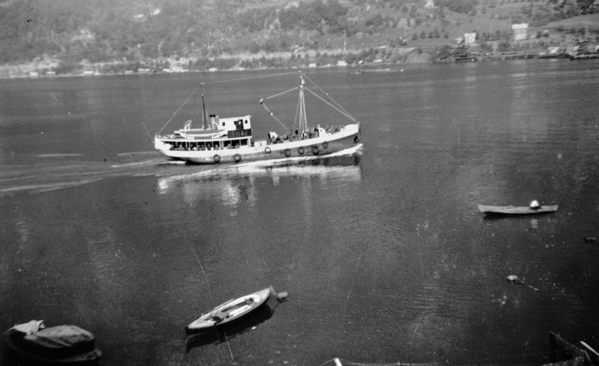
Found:
[[[190,337],[187,337],[185,349],[189,352],[196,347],[207,346],[208,344],[225,343],[238,335],[256,330],[258,325],[272,318],[277,305],[278,304],[271,308],[268,302],[264,303],[261,306],[256,307],[251,313],[229,325],[213,327],[203,333],[193,334]]]

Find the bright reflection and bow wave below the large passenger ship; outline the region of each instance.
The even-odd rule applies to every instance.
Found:
[[[280,179],[284,178],[318,178],[324,184],[334,181],[336,186],[359,182],[362,178],[361,155],[361,149],[351,149],[327,157],[252,161],[214,169],[186,166],[183,169],[189,173],[158,178],[158,189],[161,194],[180,190],[183,200],[189,204],[201,198],[215,198],[231,208],[241,199],[253,205],[256,202],[256,179],[264,177],[271,178],[273,185],[279,185]]]

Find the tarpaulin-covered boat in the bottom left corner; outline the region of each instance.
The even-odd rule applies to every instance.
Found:
[[[99,365],[92,333],[75,325],[46,328],[43,321],[18,324],[2,335],[2,365]]]

